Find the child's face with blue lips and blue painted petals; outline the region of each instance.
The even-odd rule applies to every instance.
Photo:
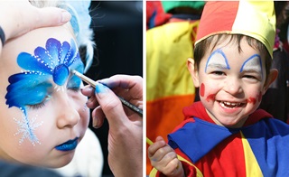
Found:
[[[77,45],[61,26],[7,42],[0,61],[0,158],[46,167],[70,163],[89,125]]]

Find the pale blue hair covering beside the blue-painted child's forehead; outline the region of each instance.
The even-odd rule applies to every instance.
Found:
[[[90,0],[65,0],[65,3],[61,6],[71,14],[70,23],[75,33],[78,47],[86,46],[86,66],[84,72],[87,72],[91,66],[95,45],[95,42],[92,41],[93,31],[89,27],[91,23],[91,16],[89,14],[90,3]]]

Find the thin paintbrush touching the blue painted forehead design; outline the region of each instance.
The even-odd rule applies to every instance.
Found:
[[[83,81],[85,81],[86,83],[88,83],[90,86],[92,86],[93,88],[96,88],[97,82],[94,81],[93,79],[89,79],[89,77],[81,74],[80,72],[78,72],[77,70],[71,70],[71,73],[76,75],[77,77],[79,77],[80,79],[82,79]],[[100,83],[101,84],[101,83]],[[135,107],[135,105],[129,103],[128,101],[126,101],[126,99],[121,98],[119,96],[117,96],[119,98],[119,100],[122,102],[123,105],[125,105],[126,107],[130,108],[131,110],[135,111],[135,113],[137,113],[140,116],[143,116],[143,110]]]

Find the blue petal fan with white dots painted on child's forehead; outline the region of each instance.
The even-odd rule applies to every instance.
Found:
[[[70,46],[71,45],[71,46]],[[29,62],[27,62],[29,61]],[[37,47],[34,55],[22,52],[18,55],[18,65],[27,70],[27,73],[51,75],[53,81],[62,86],[70,75],[69,67],[79,60],[79,52],[75,43],[61,42],[50,38],[46,42],[46,49]]]

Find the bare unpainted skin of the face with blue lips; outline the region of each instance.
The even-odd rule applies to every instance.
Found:
[[[43,98],[43,105],[25,106],[26,116],[32,124],[35,118],[35,124],[39,126],[33,129],[33,134],[38,142],[30,141],[30,138],[24,138],[20,142],[22,135],[19,132],[19,126],[16,120],[22,120],[23,112],[19,107],[8,107],[6,105],[5,95],[9,85],[8,78],[14,74],[20,73],[22,68],[17,64],[17,56],[21,52],[33,54],[34,50],[42,46],[49,38],[57,39],[60,42],[70,42],[73,39],[71,29],[68,26],[50,27],[33,30],[20,37],[14,38],[5,43],[2,51],[0,63],[0,124],[3,127],[0,134],[0,158],[10,162],[26,163],[37,166],[57,168],[70,163],[75,149],[70,151],[59,151],[55,147],[69,140],[79,137],[78,143],[85,134],[89,125],[89,109],[85,109],[87,97],[83,96],[79,88],[71,89],[75,78],[69,76],[62,86],[58,86],[53,79],[46,79],[45,82],[51,84],[47,90],[41,91],[46,96]],[[28,63],[30,61],[27,61]],[[37,81],[37,80],[36,80]],[[42,84],[37,85],[40,87]],[[54,87],[56,86],[56,89]],[[74,85],[75,86],[75,85]],[[28,86],[27,86],[28,87]],[[60,90],[58,90],[60,89]],[[46,90],[46,89],[44,89]],[[33,98],[23,89],[23,99]],[[39,92],[35,92],[38,97]]]

